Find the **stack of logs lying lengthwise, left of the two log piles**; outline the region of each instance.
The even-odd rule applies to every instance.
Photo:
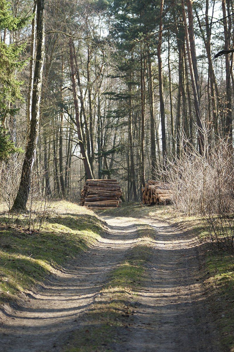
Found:
[[[87,207],[119,207],[122,190],[117,180],[86,180],[81,191],[81,205]]]

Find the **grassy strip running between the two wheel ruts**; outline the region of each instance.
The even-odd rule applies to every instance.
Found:
[[[106,352],[123,348],[137,307],[137,291],[146,279],[144,265],[150,256],[150,238],[139,238],[128,259],[111,272],[108,284],[83,317],[64,351]]]

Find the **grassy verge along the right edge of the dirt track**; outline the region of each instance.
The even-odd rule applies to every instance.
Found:
[[[111,210],[113,212],[113,210]],[[105,211],[99,211],[105,214]],[[130,215],[131,214],[131,215]],[[209,295],[210,308],[213,311],[215,324],[220,332],[223,351],[234,352],[234,257],[230,253],[217,251],[216,247],[206,240],[204,219],[186,217],[174,212],[172,206],[139,206],[132,203],[117,209],[116,216],[152,217],[154,220],[165,220],[171,225],[180,227],[188,235],[201,239],[201,252],[205,252],[204,284]],[[204,243],[206,244],[204,246]]]

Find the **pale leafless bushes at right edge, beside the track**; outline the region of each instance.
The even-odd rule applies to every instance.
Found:
[[[185,215],[203,215],[208,237],[218,247],[234,250],[233,149],[220,140],[200,155],[191,146],[168,164],[166,177],[173,184],[175,208]]]

